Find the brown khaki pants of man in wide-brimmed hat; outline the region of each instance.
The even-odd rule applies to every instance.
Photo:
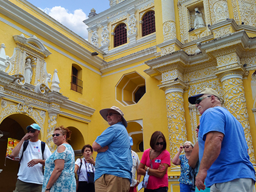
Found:
[[[114,175],[102,175],[95,181],[95,191],[97,192],[128,192],[130,181],[127,178]]]

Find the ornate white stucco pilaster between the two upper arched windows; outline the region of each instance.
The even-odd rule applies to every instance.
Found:
[[[129,21],[128,21],[128,27],[129,27],[129,30],[127,31],[127,37],[129,38],[130,40],[130,45],[133,45],[133,44],[136,44],[136,36],[137,36],[137,27],[136,27],[136,23],[137,23],[137,20],[136,20],[136,17],[135,17],[135,13],[136,13],[136,8],[135,6],[132,7],[131,9],[129,9],[127,11],[127,13],[129,13]]]

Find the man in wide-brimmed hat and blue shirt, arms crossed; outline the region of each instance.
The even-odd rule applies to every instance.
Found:
[[[95,164],[95,191],[127,192],[132,179],[133,160],[127,121],[116,106],[100,110],[110,127],[93,142],[98,152]]]

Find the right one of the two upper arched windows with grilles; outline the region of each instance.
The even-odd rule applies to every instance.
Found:
[[[154,33],[155,31],[155,11],[148,11],[142,18],[142,36]]]

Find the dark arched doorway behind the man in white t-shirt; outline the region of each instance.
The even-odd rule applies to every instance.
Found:
[[[5,118],[0,124],[0,130],[3,132],[3,137],[0,138],[0,188],[1,191],[12,192],[15,189],[15,183],[18,173],[18,162],[6,159],[5,156],[8,138],[22,139],[26,131],[26,127],[35,123],[33,119],[24,114],[14,114]],[[39,139],[41,136],[39,135]]]

